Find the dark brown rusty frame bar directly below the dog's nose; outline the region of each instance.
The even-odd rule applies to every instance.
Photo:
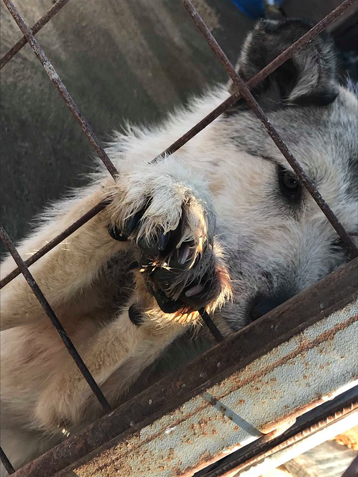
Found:
[[[221,386],[220,383],[222,383],[224,387],[230,383],[238,388],[244,386],[242,378],[236,375],[234,376],[234,374],[237,371],[247,369],[250,363],[266,356],[270,350],[277,349],[280,344],[287,343],[294,336],[297,337],[298,344],[300,343],[297,351],[302,353],[301,356],[304,356],[310,352],[309,346],[307,346],[307,342],[302,336],[304,330],[309,327],[312,329],[312,326],[322,326],[321,323],[324,322],[323,320],[329,318],[339,310],[346,310],[345,313],[348,315],[347,310],[349,304],[357,301],[357,272],[358,259],[356,258],[345,267],[333,272],[319,283],[280,305],[268,315],[259,318],[249,326],[233,333],[224,342],[199,356],[174,374],[165,377],[155,385],[145,389],[138,396],[123,403],[114,409],[110,415],[102,417],[88,428],[77,433],[76,436],[70,437],[64,443],[59,444],[43,456],[25,465],[16,472],[15,476],[66,476],[68,475],[67,471],[73,469],[74,466],[77,465],[76,463],[85,462],[87,459],[86,456],[89,454],[97,454],[99,449],[108,448],[111,445],[117,446],[120,442],[128,443],[134,433],[138,433],[149,424],[155,424],[162,416],[167,416],[167,428],[169,427],[169,429],[171,429],[172,421],[176,419],[173,417],[174,413],[179,412],[184,403],[187,403],[196,396],[201,396],[203,392],[206,392],[212,386]],[[355,319],[358,319],[358,317],[355,317]],[[342,320],[344,322],[344,318],[342,318]],[[343,329],[344,326],[345,325],[339,326],[338,329]],[[265,329],[265,332],[263,332],[263,329]],[[346,330],[348,332],[349,328],[346,328]],[[316,344],[322,346],[324,339],[332,343],[331,339],[333,335],[334,332],[329,331],[323,335],[318,333]],[[329,349],[331,349],[330,346]],[[233,352],[233,350],[235,350],[235,352]],[[322,350],[318,353],[318,356],[324,356]],[[342,354],[338,353],[337,356],[338,360],[344,360],[342,365],[345,366],[348,366],[347,359],[352,357],[352,359],[355,360],[351,348],[346,355],[346,359]],[[275,356],[275,359],[276,358],[278,357]],[[308,357],[304,358],[304,362],[306,360],[308,360]],[[267,361],[269,366],[271,366],[269,358]],[[295,361],[297,361],[297,359],[295,359]],[[258,369],[262,370],[263,368],[260,366]],[[294,369],[294,367],[291,369]],[[312,364],[312,370],[313,369],[314,366]],[[330,367],[327,367],[326,370],[329,371]],[[306,372],[307,375],[310,374],[308,370],[306,370],[305,373]],[[232,378],[230,378],[231,376]],[[308,387],[308,381],[305,380],[305,377],[302,379],[303,384],[306,384],[306,387]],[[265,378],[261,378],[261,381],[259,378],[257,378],[257,380],[250,380],[249,386],[252,385],[252,393],[255,393],[257,391],[256,388],[266,383],[266,381]],[[266,384],[269,386],[269,383]],[[295,386],[297,387],[297,383]],[[272,391],[272,387],[270,387],[270,390]],[[275,390],[277,390],[276,386]],[[322,392],[322,390],[318,390],[318,394],[320,392]],[[219,390],[219,393],[222,395],[224,391]],[[319,397],[319,399],[321,397]],[[238,400],[239,398],[237,401]],[[241,403],[240,405],[244,406],[245,403]],[[270,405],[271,403],[267,406],[267,409]],[[202,401],[202,406],[205,412],[210,409],[210,403],[207,401]],[[310,409],[309,406],[299,407],[297,403],[292,403],[292,406],[295,407],[294,412],[296,412],[296,414],[302,414]],[[262,406],[259,405],[259,407]],[[186,408],[186,410],[188,410],[188,408]],[[236,412],[239,412],[237,407]],[[253,409],[249,411],[248,415],[252,412]],[[287,413],[289,412],[287,411]],[[196,413],[192,415],[195,416]],[[248,415],[246,415],[247,418]],[[294,414],[289,415],[288,419],[292,417],[294,417]],[[200,417],[197,417],[197,421],[200,421]],[[177,423],[180,423],[180,418]],[[197,429],[199,434],[201,431],[205,431],[205,428],[201,428],[199,423]],[[267,430],[270,429],[264,428],[262,432],[266,432]],[[168,432],[171,431],[168,430]],[[166,435],[167,433],[165,431],[161,431],[158,434],[158,439],[164,439]],[[145,434],[142,434],[142,436],[144,439]],[[189,439],[189,436],[187,437]],[[207,439],[216,439],[216,437],[213,434],[208,434]],[[181,442],[183,443],[184,441]],[[206,442],[209,441],[207,440]],[[187,451],[189,455],[190,452],[196,448],[195,446],[196,443],[194,441],[191,443],[188,442]],[[170,447],[171,446],[168,446],[168,451]],[[130,446],[128,446],[128,452],[130,449]],[[160,445],[158,449],[164,449],[164,447]],[[201,449],[200,453],[202,452]],[[147,473],[146,475],[151,474]],[[174,475],[174,472],[169,475]]]

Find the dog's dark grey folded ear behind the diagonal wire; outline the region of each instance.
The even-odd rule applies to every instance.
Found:
[[[311,28],[302,20],[260,20],[249,33],[236,69],[245,80],[251,79],[277,55]],[[232,81],[229,91],[236,91]],[[306,44],[252,93],[269,107],[282,104],[326,105],[338,94],[335,47],[327,34]],[[238,104],[242,106],[242,101]]]

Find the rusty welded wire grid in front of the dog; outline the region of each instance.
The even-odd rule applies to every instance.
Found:
[[[116,178],[118,176],[118,171],[116,170],[114,164],[108,158],[107,154],[105,153],[103,147],[101,146],[100,142],[96,138],[95,134],[91,130],[89,123],[87,122],[86,118],[82,115],[81,111],[79,110],[77,104],[71,97],[70,93],[67,91],[66,86],[56,73],[54,67],[46,57],[44,51],[34,38],[34,35],[41,30],[41,28],[56,14],[60,11],[60,9],[68,3],[69,0],[58,0],[49,10],[48,12],[43,15],[35,25],[29,29],[22,19],[21,15],[19,14],[18,10],[14,6],[11,0],[3,0],[4,4],[6,5],[7,9],[9,10],[10,14],[12,15],[13,19],[15,20],[16,24],[18,25],[20,31],[23,34],[23,38],[21,38],[1,59],[0,59],[0,69],[3,68],[10,60],[13,58],[20,49],[26,44],[29,43],[30,47],[32,48],[33,52],[36,54],[37,58],[41,62],[42,66],[46,70],[49,78],[56,86],[57,90],[63,97],[64,101],[66,102],[68,108],[79,122],[82,130],[86,134],[89,139],[89,142],[93,146],[94,150],[96,151],[99,158],[102,160],[108,172],[112,175],[112,177]],[[331,13],[329,13],[325,18],[319,21],[314,27],[312,27],[307,33],[302,35],[297,41],[295,41],[291,46],[289,46],[286,50],[284,50],[280,55],[278,55],[269,65],[263,68],[257,75],[251,78],[248,82],[244,82],[243,79],[240,78],[238,73],[236,72],[233,65],[230,63],[228,58],[226,57],[225,53],[221,49],[221,47],[216,42],[215,38],[211,34],[210,30],[207,28],[203,20],[201,19],[200,15],[195,10],[194,6],[189,0],[183,0],[183,5],[190,14],[192,20],[194,21],[195,25],[198,27],[200,33],[208,42],[209,46],[223,65],[224,69],[228,73],[229,77],[233,80],[237,91],[234,92],[229,98],[223,101],[219,106],[217,106],[213,111],[211,111],[205,118],[195,124],[189,131],[187,131],[183,136],[181,136],[175,143],[170,145],[165,151],[163,151],[160,155],[154,158],[151,163],[155,163],[161,160],[165,155],[170,155],[176,152],[181,146],[187,143],[191,138],[193,138],[197,133],[199,133],[202,129],[204,129],[208,124],[210,124],[214,119],[216,119],[220,114],[224,111],[229,109],[233,106],[237,101],[240,99],[245,99],[248,103],[249,107],[253,110],[256,114],[258,119],[263,123],[264,128],[268,132],[269,136],[271,137],[272,141],[275,143],[277,148],[281,151],[284,158],[289,162],[292,169],[295,171],[298,179],[301,183],[306,187],[308,192],[311,194],[313,199],[316,201],[317,205],[320,207],[322,212],[327,217],[328,221],[331,223],[332,227],[336,230],[337,234],[339,235],[340,239],[347,245],[347,250],[350,253],[352,258],[358,256],[358,248],[344,229],[342,224],[340,223],[339,219],[333,213],[329,205],[323,199],[321,194],[319,193],[315,184],[310,180],[306,172],[302,169],[301,165],[295,159],[292,152],[288,149],[276,129],[271,125],[266,116],[265,112],[259,106],[253,95],[251,94],[250,90],[257,86],[261,81],[267,78],[273,71],[275,71],[279,66],[289,60],[298,50],[304,47],[305,44],[310,42],[315,36],[321,33],[330,23],[334,20],[339,18],[351,5],[357,3],[357,0],[344,0],[337,8],[335,8]],[[110,411],[110,405],[107,402],[106,398],[103,396],[102,392],[100,391],[99,387],[97,386],[95,380],[93,379],[92,375],[89,372],[86,364],[81,359],[81,356],[77,352],[76,348],[74,347],[73,343],[71,342],[70,338],[68,337],[66,331],[64,330],[63,326],[61,325],[60,321],[56,317],[55,313],[53,312],[50,304],[47,302],[46,298],[44,297],[43,293],[41,292],[39,286],[37,285],[36,281],[32,277],[31,273],[28,270],[28,267],[37,261],[39,258],[44,256],[48,251],[54,248],[56,245],[60,244],[64,239],[69,237],[73,232],[78,230],[82,225],[88,222],[92,217],[94,217],[97,213],[103,210],[108,202],[102,201],[95,205],[92,209],[90,209],[86,214],[80,217],[76,222],[74,222],[70,227],[68,227],[65,231],[61,234],[56,236],[50,242],[48,242],[45,246],[40,248],[36,253],[34,253],[30,258],[26,261],[22,260],[20,255],[18,254],[16,248],[14,247],[11,239],[8,237],[4,229],[1,227],[0,236],[1,239],[4,241],[5,246],[7,247],[8,251],[14,258],[14,261],[17,265],[12,272],[6,275],[0,282],[0,288],[5,286],[9,283],[13,278],[22,274],[26,279],[28,285],[31,287],[33,293],[35,294],[36,298],[38,299],[39,303],[41,304],[42,308],[45,310],[48,317],[51,319],[52,323],[54,324],[57,332],[61,336],[65,346],[67,347],[69,353],[73,357],[76,365],[79,367],[81,373],[83,374],[84,378],[86,379],[89,387],[91,388],[92,392],[97,397],[98,401],[100,402],[103,410],[105,412]],[[210,331],[213,333],[214,337],[217,341],[222,339],[220,331],[216,328],[211,318],[204,310],[200,310],[201,317],[203,321],[207,324]],[[3,450],[0,448],[0,458],[3,466],[7,470],[9,474],[14,472],[13,467],[11,466],[9,460],[7,459],[6,455],[4,454]]]

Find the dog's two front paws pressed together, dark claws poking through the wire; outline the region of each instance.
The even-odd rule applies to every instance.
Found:
[[[199,177],[164,162],[121,177],[111,191],[109,234],[137,245],[139,273],[164,313],[188,314],[222,293],[206,189]]]

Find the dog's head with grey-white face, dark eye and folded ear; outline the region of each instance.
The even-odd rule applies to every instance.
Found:
[[[309,28],[300,20],[260,21],[243,46],[241,77],[252,78]],[[235,90],[233,83],[229,90]],[[339,83],[330,37],[316,37],[252,92],[357,239],[357,96]],[[239,328],[323,278],[349,255],[245,102],[219,127],[225,141],[229,137],[235,145],[228,161],[235,167],[226,170],[232,187],[220,199],[228,207],[219,224],[231,254],[236,303],[235,311],[229,306],[222,313]]]

